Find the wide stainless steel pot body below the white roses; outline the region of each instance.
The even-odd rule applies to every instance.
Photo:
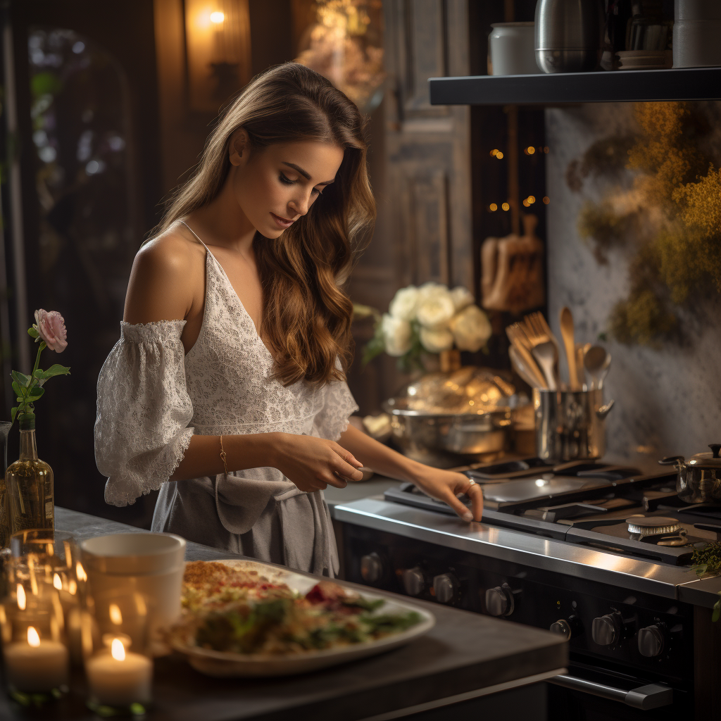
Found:
[[[383,404],[394,440],[404,455],[438,467],[459,465],[458,456],[505,451],[510,442],[510,407],[485,413],[441,414],[410,410],[405,398]]]

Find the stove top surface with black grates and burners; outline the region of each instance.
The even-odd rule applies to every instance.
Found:
[[[483,487],[484,523],[672,565],[689,565],[694,549],[721,540],[721,507],[682,503],[675,472],[643,475],[588,461],[510,464],[466,471]],[[385,498],[454,514],[411,483],[386,490]]]

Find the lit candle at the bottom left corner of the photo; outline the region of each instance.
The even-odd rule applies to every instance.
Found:
[[[68,683],[68,650],[59,641],[40,639],[27,627],[27,643],[4,647],[8,684],[19,691],[51,691]]]

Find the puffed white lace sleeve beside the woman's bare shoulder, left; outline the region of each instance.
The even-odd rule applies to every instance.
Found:
[[[97,383],[95,461],[108,477],[105,501],[134,503],[158,489],[182,460],[193,428],[185,385],[184,320],[120,324]]]

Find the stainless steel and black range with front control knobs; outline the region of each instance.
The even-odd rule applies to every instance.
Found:
[[[404,484],[336,505],[346,578],[564,634],[567,676],[549,689],[568,719],[709,717],[721,580],[689,570],[721,536],[718,505],[689,505],[676,474],[523,459],[467,472],[482,523]]]

